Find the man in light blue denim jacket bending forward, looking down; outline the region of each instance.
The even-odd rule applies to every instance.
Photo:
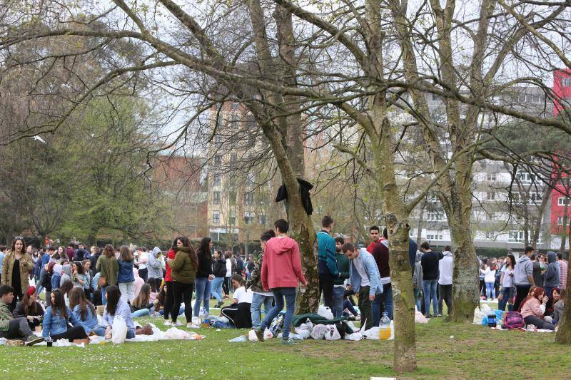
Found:
[[[359,294],[361,326],[365,323],[365,330],[368,330],[373,327],[373,311],[370,304],[375,299],[375,294],[383,293],[377,263],[373,255],[367,252],[365,248],[358,250],[351,243],[346,243],[341,250],[350,260],[349,281],[351,287],[355,293]]]

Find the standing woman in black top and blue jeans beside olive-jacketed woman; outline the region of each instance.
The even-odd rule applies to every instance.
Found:
[[[198,317],[201,312],[202,306],[206,311],[206,315],[210,312],[210,297],[211,297],[211,281],[214,279],[212,274],[212,255],[211,250],[213,242],[210,237],[203,237],[201,245],[196,250],[198,257],[198,269],[196,270],[196,301],[194,302],[194,317]]]

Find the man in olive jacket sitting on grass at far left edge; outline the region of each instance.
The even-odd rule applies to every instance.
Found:
[[[0,338],[20,339],[26,346],[44,342],[44,338],[36,337],[24,317],[13,318],[9,304],[14,301],[14,288],[9,285],[0,286]]]

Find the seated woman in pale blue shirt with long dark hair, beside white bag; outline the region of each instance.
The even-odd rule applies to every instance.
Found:
[[[116,285],[109,285],[105,288],[107,304],[105,306],[105,311],[103,312],[103,318],[101,319],[101,324],[94,327],[94,333],[99,337],[105,337],[105,339],[111,339],[113,337],[113,319],[115,317],[123,317],[125,324],[127,325],[127,339],[132,339],[136,334],[151,335],[153,334],[153,329],[150,324],[146,324],[145,327],[135,328],[135,323],[131,318],[131,309],[127,302],[121,299],[121,292]]]

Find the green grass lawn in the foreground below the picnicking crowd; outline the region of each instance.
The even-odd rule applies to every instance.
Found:
[[[162,319],[145,318],[161,329]],[[418,370],[408,379],[569,378],[570,346],[555,334],[500,332],[442,318],[417,324]],[[0,379],[368,379],[395,376],[392,342],[305,340],[283,346],[229,343],[247,330],[200,329],[202,341],[92,344],[75,347],[0,346]],[[453,336],[453,338],[450,338]]]

